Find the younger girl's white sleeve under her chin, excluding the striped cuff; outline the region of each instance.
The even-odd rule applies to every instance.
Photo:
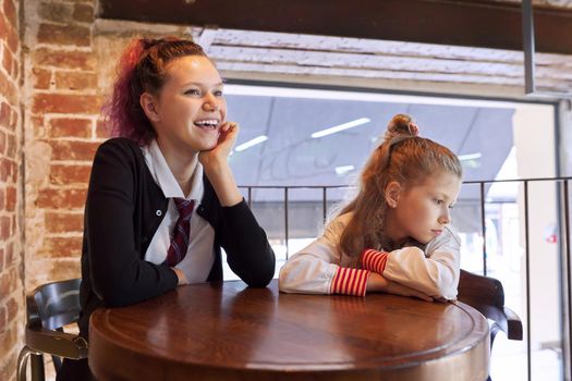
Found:
[[[454,299],[460,276],[461,241],[451,228],[429,242],[425,253],[404,247],[389,254],[384,276],[435,298]]]

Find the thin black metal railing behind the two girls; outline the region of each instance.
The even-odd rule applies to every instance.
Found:
[[[569,183],[572,177],[539,177],[539,179],[513,179],[513,180],[487,180],[487,181],[467,181],[463,185],[478,185],[479,187],[479,206],[480,206],[480,234],[483,237],[483,274],[487,274],[487,231],[486,231],[486,187],[487,185],[498,183],[515,183],[522,185],[523,190],[523,218],[524,218],[524,260],[525,260],[525,300],[526,300],[526,357],[527,357],[527,380],[532,379],[532,354],[531,354],[531,273],[530,273],[530,184],[538,182],[548,182],[557,186],[557,194],[555,195],[557,221],[558,221],[558,243],[559,243],[559,258],[561,263],[561,295],[562,295],[562,351],[561,358],[563,359],[563,378],[569,380],[572,374],[572,361],[570,360],[570,345],[572,343],[572,274],[571,274],[571,238],[570,238],[570,186]],[[328,190],[349,188],[348,185],[321,186],[321,185],[292,185],[292,186],[272,186],[272,185],[243,185],[242,189],[246,189],[246,200],[248,206],[253,206],[253,190],[255,189],[281,189],[283,193],[283,211],[284,211],[284,243],[285,243],[285,259],[289,258],[289,192],[292,189],[321,189],[321,208],[322,221],[326,221],[328,214]]]

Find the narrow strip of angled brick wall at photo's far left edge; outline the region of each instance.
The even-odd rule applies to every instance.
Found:
[[[23,339],[21,44],[17,0],[0,1],[0,380],[15,378]]]

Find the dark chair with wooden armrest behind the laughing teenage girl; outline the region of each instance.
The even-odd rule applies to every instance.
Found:
[[[76,323],[80,318],[80,279],[52,282],[34,290],[26,297],[25,346],[17,358],[17,381],[26,379],[27,360],[31,358],[32,380],[45,380],[44,354],[51,355],[56,372],[61,358],[87,357],[87,342],[63,332],[63,327]]]

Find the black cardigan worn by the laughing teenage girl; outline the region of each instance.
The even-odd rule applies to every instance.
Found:
[[[250,286],[266,286],[275,254],[244,199],[221,207],[208,179],[197,213],[215,230],[215,263],[208,281],[222,280],[220,247]],[[169,199],[155,183],[141,147],[126,138],[99,146],[85,206],[80,330],[87,337],[89,316],[100,307],[145,300],[178,285],[173,270],[145,261],[147,247],[167,212]]]

